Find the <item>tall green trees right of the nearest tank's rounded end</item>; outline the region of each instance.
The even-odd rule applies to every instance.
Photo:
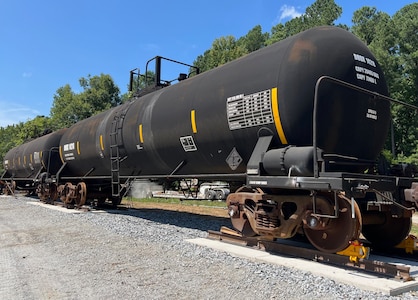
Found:
[[[375,55],[385,73],[393,98],[417,105],[418,95],[418,4],[407,5],[393,18],[374,7],[362,7],[353,14],[352,32],[362,39]],[[417,112],[392,105],[395,160],[409,161],[418,153]],[[391,149],[388,141],[387,149]],[[417,161],[418,163],[418,161]]]

